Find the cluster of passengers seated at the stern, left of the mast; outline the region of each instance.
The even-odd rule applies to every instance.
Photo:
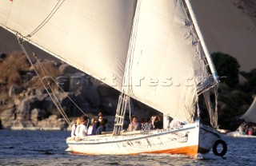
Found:
[[[87,116],[78,117],[72,125],[71,137],[82,138],[84,136],[100,135],[106,132],[107,119],[103,118],[102,112],[98,117],[90,118]]]

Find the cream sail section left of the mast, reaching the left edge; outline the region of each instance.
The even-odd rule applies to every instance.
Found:
[[[1,0],[0,23],[120,90],[134,8],[134,0]]]

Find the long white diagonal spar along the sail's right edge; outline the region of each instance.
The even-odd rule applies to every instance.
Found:
[[[213,61],[212,61],[212,59],[210,57],[210,53],[209,53],[209,50],[207,49],[205,39],[202,36],[202,31],[200,30],[200,27],[198,26],[197,18],[196,18],[195,14],[194,14],[193,7],[191,6],[190,0],[185,0],[185,2],[186,2],[187,9],[189,11],[189,14],[191,16],[191,19],[193,21],[194,28],[195,28],[195,30],[196,30],[196,32],[198,34],[198,38],[201,41],[202,49],[203,49],[203,51],[206,54],[206,59],[207,59],[208,64],[210,66],[210,71],[211,71],[211,73],[214,76],[214,81],[218,82],[219,81],[218,73],[217,73],[217,71],[215,69],[215,66],[214,66],[214,63],[213,63]]]

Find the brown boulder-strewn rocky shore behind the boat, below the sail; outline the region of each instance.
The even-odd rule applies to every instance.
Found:
[[[22,59],[18,64],[17,58]],[[45,80],[42,79],[46,83],[45,89],[32,67],[26,63],[28,62],[22,52],[10,55],[2,53],[0,56],[0,128],[70,130],[76,117],[83,114],[94,117],[98,115],[99,110],[103,111],[109,120],[107,130],[113,128],[119,96],[117,90],[70,65],[42,60],[40,63],[50,72],[50,75],[43,77]],[[25,67],[16,67],[22,65]],[[34,66],[37,68],[39,64],[35,62]],[[6,71],[8,67],[11,69],[5,75],[2,71]],[[50,78],[47,82],[46,77]],[[52,97],[56,97],[54,101]],[[140,109],[142,115],[148,115],[145,109],[148,111],[150,108],[138,101],[131,102],[131,113],[134,113],[134,109]],[[151,109],[151,113],[152,110],[154,109]],[[63,117],[68,117],[70,124]],[[127,123],[125,121],[125,124]]]

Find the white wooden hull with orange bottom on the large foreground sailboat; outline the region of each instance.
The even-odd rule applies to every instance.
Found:
[[[196,156],[206,153],[220,136],[218,131],[199,123],[150,131],[124,132],[122,136],[87,136],[82,140],[68,138],[74,153],[86,155],[133,155],[139,153],[171,153]]]

